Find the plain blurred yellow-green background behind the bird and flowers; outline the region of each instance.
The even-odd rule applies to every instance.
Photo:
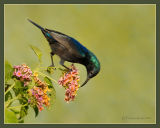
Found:
[[[55,105],[37,118],[30,109],[25,123],[155,123],[155,5],[5,5],[5,59],[36,67],[32,44],[47,67],[48,42],[27,18],[80,41],[98,57],[101,71],[69,104],[54,84]],[[59,66],[59,57],[54,61]],[[76,66],[82,83],[85,67]]]

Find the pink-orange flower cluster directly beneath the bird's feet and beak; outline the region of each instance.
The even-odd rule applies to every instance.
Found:
[[[69,102],[74,100],[77,90],[79,88],[78,70],[72,64],[71,70],[64,72],[62,77],[59,79],[58,83],[66,89],[65,92],[65,101]]]

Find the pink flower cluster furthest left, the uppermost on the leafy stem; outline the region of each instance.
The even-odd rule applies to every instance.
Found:
[[[31,81],[32,71],[26,64],[14,66],[13,76],[24,82],[24,86]]]

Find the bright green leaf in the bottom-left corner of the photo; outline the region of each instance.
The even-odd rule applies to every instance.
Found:
[[[5,109],[5,123],[18,123],[16,115],[9,109]]]

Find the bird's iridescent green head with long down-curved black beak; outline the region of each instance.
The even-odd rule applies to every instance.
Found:
[[[83,87],[91,78],[95,77],[100,71],[100,62],[93,53],[89,53],[89,62],[85,66],[87,69],[87,79],[81,87]]]

